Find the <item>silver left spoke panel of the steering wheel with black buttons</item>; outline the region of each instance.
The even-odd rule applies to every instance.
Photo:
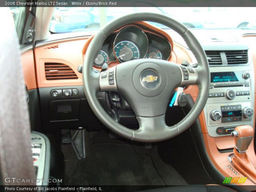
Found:
[[[116,91],[116,66],[100,72],[100,91]]]

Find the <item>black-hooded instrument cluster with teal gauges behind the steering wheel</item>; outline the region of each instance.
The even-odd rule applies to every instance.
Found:
[[[143,58],[168,60],[171,51],[171,44],[163,37],[146,33],[136,26],[128,26],[106,38],[94,67],[101,68],[104,63],[112,61],[123,63]]]

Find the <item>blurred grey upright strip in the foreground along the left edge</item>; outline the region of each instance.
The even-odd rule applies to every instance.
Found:
[[[20,49],[10,9],[2,8],[0,18],[3,18],[0,20],[0,26],[2,26],[0,32],[0,172],[2,183],[4,185],[36,185],[32,183],[36,181],[36,174],[32,160],[31,131]],[[22,179],[25,182],[22,182]]]

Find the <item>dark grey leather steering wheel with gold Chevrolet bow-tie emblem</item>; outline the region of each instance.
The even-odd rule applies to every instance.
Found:
[[[95,72],[93,62],[106,37],[116,29],[137,21],[157,22],[179,33],[195,55],[198,67],[187,68],[165,60],[137,59]],[[109,81],[109,77],[113,80]],[[165,112],[171,94],[175,88],[191,84],[199,87],[195,105],[179,123],[167,126]],[[93,37],[84,57],[83,87],[92,111],[111,131],[130,140],[157,142],[184,132],[203,110],[209,85],[208,61],[196,37],[178,21],[156,13],[133,13],[113,20]],[[96,97],[99,91],[120,93],[133,109],[139,129],[128,129],[112,119]]]

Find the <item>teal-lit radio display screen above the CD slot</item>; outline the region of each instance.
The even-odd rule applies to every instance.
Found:
[[[211,73],[211,83],[243,81],[243,72],[214,72]]]

